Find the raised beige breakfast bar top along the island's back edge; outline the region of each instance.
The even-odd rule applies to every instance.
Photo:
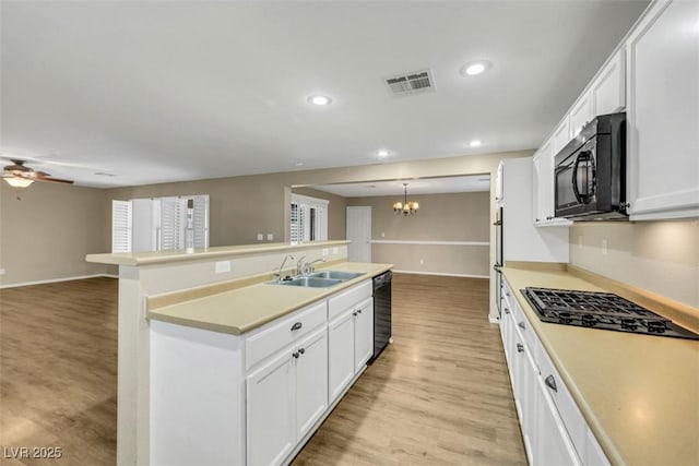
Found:
[[[203,259],[223,259],[225,256],[259,254],[262,252],[295,251],[308,248],[323,248],[344,246],[350,241],[312,241],[312,242],[268,242],[259,244],[221,246],[206,249],[194,249],[193,252],[150,251],[150,252],[118,252],[104,254],[87,254],[85,261],[97,264],[111,265],[151,265],[168,262],[199,261]]]

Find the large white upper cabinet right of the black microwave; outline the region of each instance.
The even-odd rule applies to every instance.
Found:
[[[626,43],[631,219],[699,216],[699,2],[660,1]]]

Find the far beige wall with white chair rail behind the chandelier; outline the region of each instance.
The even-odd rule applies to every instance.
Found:
[[[378,241],[489,241],[490,193],[408,195],[416,215],[393,213],[401,196],[354,198],[347,205],[371,207],[371,239]],[[489,275],[488,244],[374,243],[371,260],[395,270],[431,274]]]

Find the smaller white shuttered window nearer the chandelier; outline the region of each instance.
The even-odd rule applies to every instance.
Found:
[[[328,204],[324,199],[292,194],[291,241],[324,241],[328,239]]]

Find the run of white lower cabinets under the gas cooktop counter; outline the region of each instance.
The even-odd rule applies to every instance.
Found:
[[[608,465],[534,328],[502,280],[500,334],[531,465]]]

